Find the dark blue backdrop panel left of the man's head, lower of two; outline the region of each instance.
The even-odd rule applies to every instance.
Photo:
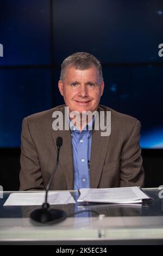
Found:
[[[22,119],[52,107],[48,69],[0,70],[0,147],[20,147]]]

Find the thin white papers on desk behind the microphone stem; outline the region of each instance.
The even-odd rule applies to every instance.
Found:
[[[11,193],[3,206],[42,205],[45,202],[45,192],[19,192]],[[49,204],[74,204],[76,203],[70,192],[48,192]]]

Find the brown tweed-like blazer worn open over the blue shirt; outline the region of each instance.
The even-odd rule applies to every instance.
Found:
[[[55,145],[62,137],[60,159],[51,190],[73,190],[73,155],[71,131],[54,131],[52,113],[61,105],[23,119],[21,145],[20,190],[45,190],[57,158]],[[99,105],[98,111],[111,111],[111,135],[92,131],[90,187],[143,186],[140,121]]]

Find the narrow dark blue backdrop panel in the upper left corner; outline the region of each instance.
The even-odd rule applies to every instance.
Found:
[[[50,62],[48,0],[1,0],[1,65],[34,65]]]

